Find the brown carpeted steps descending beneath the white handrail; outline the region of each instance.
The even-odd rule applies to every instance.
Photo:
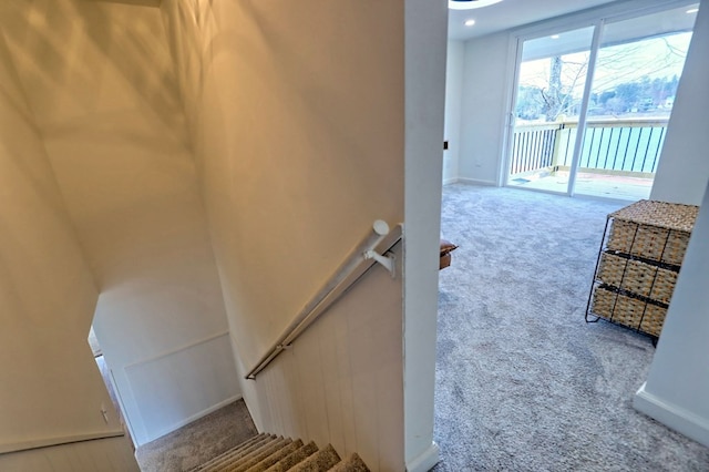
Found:
[[[363,472],[369,468],[353,453],[340,460],[328,444],[318,449],[315,442],[304,444],[261,433],[193,469],[191,472]]]

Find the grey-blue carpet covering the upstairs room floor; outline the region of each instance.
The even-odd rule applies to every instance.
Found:
[[[460,247],[439,280],[434,471],[709,470],[633,408],[649,338],[584,321],[606,215],[629,203],[443,188]]]

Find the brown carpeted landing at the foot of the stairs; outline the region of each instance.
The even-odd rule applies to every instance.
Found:
[[[135,452],[143,472],[188,471],[258,434],[244,400],[238,400]]]

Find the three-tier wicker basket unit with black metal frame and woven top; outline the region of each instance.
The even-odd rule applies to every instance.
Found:
[[[608,215],[586,321],[659,338],[698,206],[643,199]]]

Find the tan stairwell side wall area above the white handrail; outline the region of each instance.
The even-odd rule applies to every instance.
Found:
[[[201,58],[203,83],[186,107],[199,117],[233,336],[251,366],[376,218],[402,219],[401,6],[203,7],[176,13],[198,21],[183,54]]]

